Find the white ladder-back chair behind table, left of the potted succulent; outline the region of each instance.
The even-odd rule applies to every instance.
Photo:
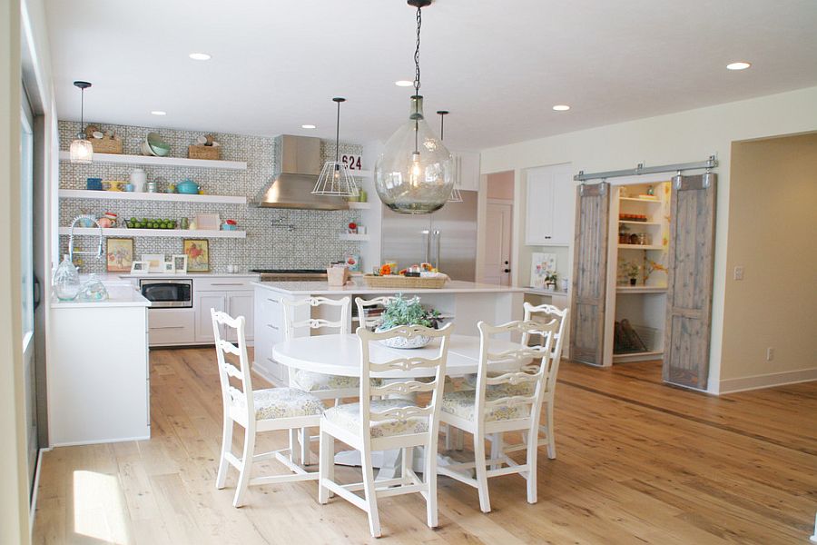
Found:
[[[351,331],[349,297],[338,300],[326,297],[308,297],[300,301],[283,299],[282,302],[284,306],[284,338],[287,341],[292,339],[295,336],[295,330],[300,328],[309,328],[310,331],[318,329],[336,330],[338,333],[349,333]],[[338,320],[313,318],[311,315],[312,310],[320,307],[338,309]],[[337,405],[340,404],[342,398],[358,397],[359,379],[357,377],[303,371],[291,367],[288,369],[288,373],[290,388],[308,391],[320,400],[335,400]],[[299,438],[300,461],[305,464],[310,462],[310,441],[312,439],[317,441],[318,439],[317,435],[311,438],[307,431],[307,429],[301,430]],[[293,450],[294,440],[293,434],[293,437],[290,438],[290,449]]]

